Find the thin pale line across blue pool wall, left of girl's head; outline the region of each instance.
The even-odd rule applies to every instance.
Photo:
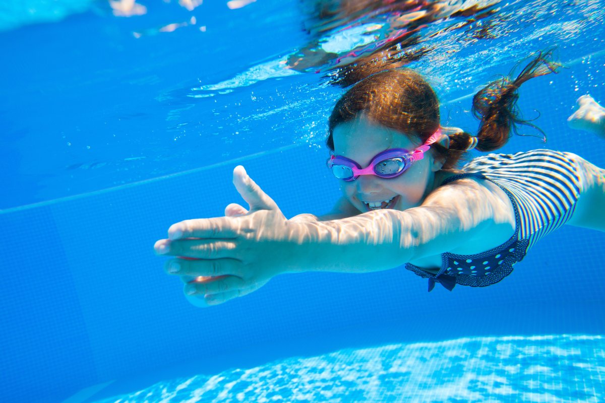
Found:
[[[207,166],[203,166],[203,167],[199,167],[199,168],[194,168],[194,169],[189,169],[189,170],[185,170],[185,171],[181,171],[181,172],[169,173],[168,175],[156,176],[155,178],[143,179],[142,181],[136,181],[136,182],[126,183],[123,185],[106,187],[105,189],[93,190],[92,192],[79,193],[79,194],[73,195],[73,196],[65,196],[62,198],[52,199],[52,200],[48,200],[48,201],[25,204],[25,205],[21,205],[18,207],[4,208],[4,209],[0,209],[0,216],[2,216],[2,214],[16,213],[17,211],[30,210],[31,208],[44,207],[47,205],[53,205],[53,204],[60,203],[60,202],[72,201],[72,200],[76,200],[76,199],[85,198],[88,196],[101,195],[101,194],[107,193],[107,192],[115,192],[117,190],[128,189],[130,187],[136,187],[139,185],[150,184],[152,182],[163,181],[164,179],[176,178],[177,176],[191,175],[192,173],[203,172],[204,170],[214,169],[214,168],[218,168],[218,167],[229,165],[229,164],[238,164],[238,163],[242,163],[243,161],[253,160],[254,158],[257,158],[258,156],[270,155],[270,154],[273,154],[276,152],[282,152],[282,151],[294,149],[297,147],[302,147],[306,144],[307,143],[290,144],[290,146],[283,146],[283,147],[279,147],[279,148],[273,149],[273,150],[252,153],[249,155],[240,156],[238,158],[233,158],[232,160],[221,161],[220,163],[215,163],[215,164],[211,164],[211,165],[207,165]]]

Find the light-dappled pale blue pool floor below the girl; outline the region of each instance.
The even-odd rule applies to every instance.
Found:
[[[346,349],[159,382],[97,403],[601,402],[605,337],[477,337]]]

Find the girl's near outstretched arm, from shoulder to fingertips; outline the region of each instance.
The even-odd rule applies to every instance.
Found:
[[[288,221],[243,167],[234,170],[234,184],[248,213],[182,221],[155,243],[159,254],[196,259],[169,260],[166,269],[201,276],[185,292],[209,304],[249,294],[284,272],[380,271],[514,230],[506,195],[474,179],[439,188],[422,207],[325,222]]]

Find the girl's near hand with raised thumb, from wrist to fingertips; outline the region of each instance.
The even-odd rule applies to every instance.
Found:
[[[181,276],[188,300],[217,305],[256,291],[284,272],[302,233],[289,224],[275,202],[247,175],[234,169],[234,185],[249,204],[225,209],[225,217],[178,222],[168,239],[155,243],[158,254],[177,256],[166,271]],[[295,257],[294,257],[295,259]]]

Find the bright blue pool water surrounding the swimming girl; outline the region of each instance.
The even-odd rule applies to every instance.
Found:
[[[405,49],[421,55],[410,66],[436,89],[442,123],[476,131],[474,91],[556,46],[565,68],[519,100],[548,142],[513,137],[501,150],[604,167],[605,140],[566,124],[580,95],[605,103],[603,1],[447,4]],[[152,245],[169,225],[241,202],[237,164],[287,217],[338,197],[323,144],[342,93],[333,61],[284,65],[321,46],[371,48],[385,28],[355,29],[388,13],[330,30],[312,5],[0,5],[0,401],[605,399],[597,231],[561,228],[497,285],[453,292],[429,294],[402,268],[313,272],[198,309],[163,272]]]

